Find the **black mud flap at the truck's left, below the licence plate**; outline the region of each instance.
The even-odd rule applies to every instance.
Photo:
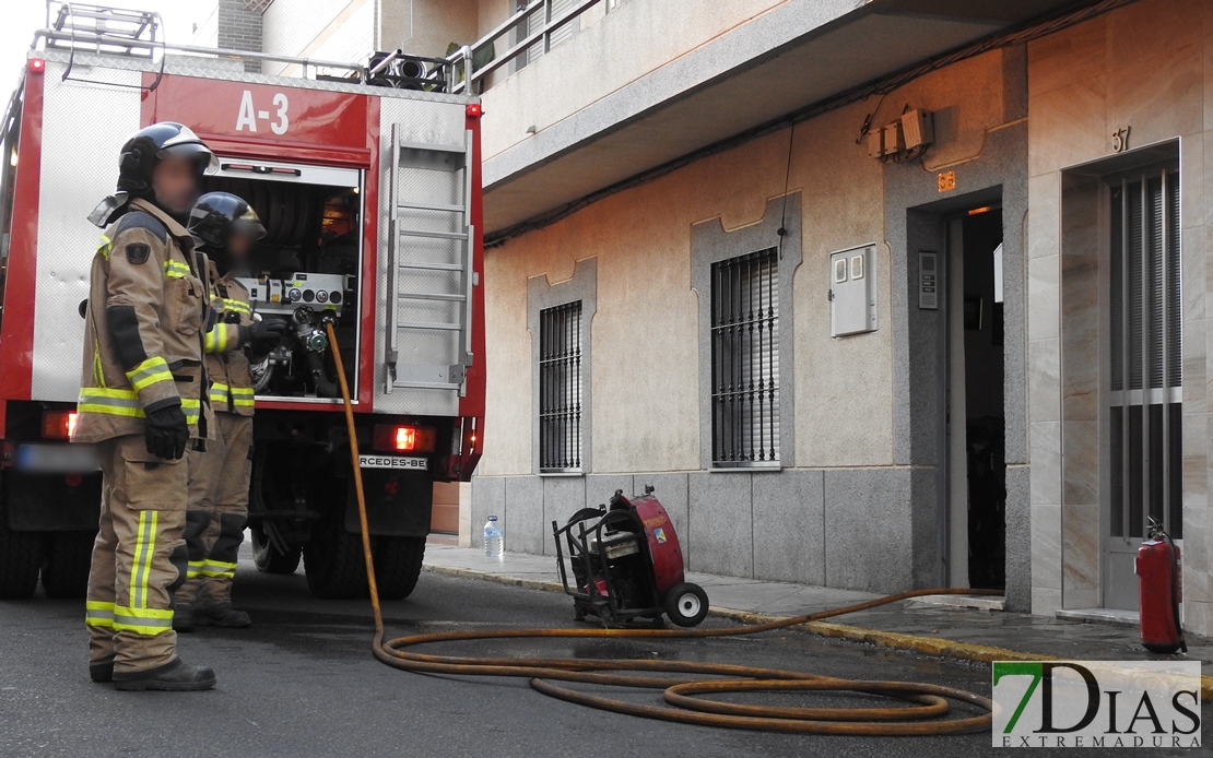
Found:
[[[87,531],[101,515],[101,473],[27,474],[6,471],[0,481],[13,531]]]

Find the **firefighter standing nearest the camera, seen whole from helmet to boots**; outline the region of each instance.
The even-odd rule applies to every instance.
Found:
[[[183,226],[217,161],[181,124],[123,146],[118,192],[90,215],[84,370],[72,439],[95,443],[103,491],[89,572],[89,674],[120,690],[205,690],[177,657],[172,593],[186,579],[186,449],[206,438],[205,270]]]

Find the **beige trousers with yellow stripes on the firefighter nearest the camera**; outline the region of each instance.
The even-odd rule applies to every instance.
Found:
[[[147,451],[142,434],[97,443],[101,522],[92,547],[85,625],[89,660],[115,676],[172,663],[172,593],[186,577],[184,458]]]

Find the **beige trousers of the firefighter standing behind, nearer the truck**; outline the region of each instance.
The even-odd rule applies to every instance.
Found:
[[[217,411],[215,427],[215,439],[206,444],[205,452],[187,454],[189,571],[177,602],[198,608],[232,602],[237,554],[249,523],[252,417]]]

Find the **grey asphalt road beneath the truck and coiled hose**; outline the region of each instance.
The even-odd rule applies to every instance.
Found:
[[[395,671],[371,657],[366,603],[313,599],[302,570],[294,576],[241,570],[237,602],[252,614],[254,628],[207,628],[182,636],[182,657],[206,663],[218,674],[216,690],[182,694],[116,693],[91,683],[82,603],[45,598],[0,602],[0,756],[938,758],[992,752],[989,734],[879,739],[718,730],[588,711],[545,697],[524,680],[448,679]],[[385,616],[389,632],[397,636],[468,625],[570,626],[573,614],[570,603],[559,594],[426,572],[410,599],[385,604]],[[662,644],[553,640],[542,645],[451,645],[448,650],[665,656],[990,691],[989,672],[983,667],[915,659],[798,632]],[[656,694],[625,696],[660,705]],[[826,702],[799,695],[745,701]],[[1211,716],[1206,705],[1206,723]]]

